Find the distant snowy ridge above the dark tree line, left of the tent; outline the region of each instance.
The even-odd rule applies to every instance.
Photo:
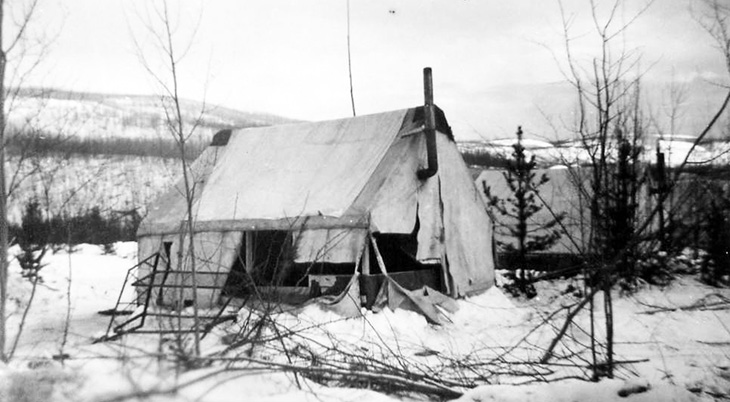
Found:
[[[151,95],[116,95],[55,89],[22,88],[8,105],[9,125],[76,138],[169,137],[160,98]],[[266,113],[242,112],[202,102],[183,100],[186,125],[199,119],[194,140],[208,141],[224,128],[268,126],[294,122]]]

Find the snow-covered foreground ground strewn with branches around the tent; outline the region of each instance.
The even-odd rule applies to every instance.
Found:
[[[179,351],[179,345],[176,349],[174,342],[161,342],[158,335],[128,335],[119,341],[92,344],[109,324],[109,318],[97,312],[114,306],[124,276],[135,264],[135,248],[134,243],[119,243],[115,254],[104,255],[97,246],[81,245],[71,254],[62,250],[46,258],[48,265],[41,271],[43,283],[38,285],[17,349],[8,365],[0,365],[0,401],[138,400],[134,396],[142,399],[143,394],[148,397],[145,400],[152,401],[423,400],[416,394],[387,395],[368,389],[324,387],[278,370],[245,370],[242,363],[225,372],[220,372],[223,361],[179,372],[163,358]],[[13,262],[9,347],[31,295],[30,283],[20,277],[19,270]],[[296,314],[273,315],[281,330],[297,336],[272,341],[271,348],[229,348],[231,336],[240,333],[247,320],[257,314],[241,309],[237,322],[222,324],[203,339],[202,354],[245,356],[285,364],[287,357],[277,354],[280,346],[291,351],[289,359],[296,359],[295,352],[302,350],[322,358],[352,352],[381,363],[392,359],[402,367],[440,370],[444,378],[476,378],[474,372],[484,367],[501,369],[520,359],[535,360],[565,314],[555,315],[553,325],[531,330],[547,314],[577,301],[575,287],[578,282],[569,279],[541,282],[538,297],[529,301],[507,297],[495,287],[458,301],[459,310],[450,315],[451,323],[443,326],[431,325],[422,316],[405,310],[363,311],[361,317],[343,319],[309,305]],[[131,297],[131,293],[127,292],[125,297]],[[466,392],[460,400],[688,401],[727,397],[730,311],[678,308],[712,306],[713,302],[728,298],[730,289],[708,287],[691,276],[680,277],[666,288],[647,286],[631,296],[615,295],[616,359],[634,361],[622,364],[615,379],[546,383],[536,381],[540,375],[487,370],[479,374],[482,381],[475,383],[488,381],[490,385],[463,389]],[[699,301],[706,303],[698,304]],[[596,305],[601,303],[597,298]],[[670,310],[664,311],[662,307]],[[603,319],[598,310],[600,334]],[[581,314],[577,323],[587,328],[587,314]],[[577,348],[586,336],[574,329],[571,339],[572,343],[559,348],[561,353],[566,348]],[[54,356],[63,354],[68,358],[54,360]],[[486,366],[479,369],[479,364]],[[576,371],[558,365],[550,369],[554,373],[547,375],[549,379]],[[177,393],[164,392],[181,384],[185,386]],[[648,390],[626,398],[619,396],[619,391],[632,387]]]

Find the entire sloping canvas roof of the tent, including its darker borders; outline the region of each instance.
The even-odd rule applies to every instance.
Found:
[[[453,139],[439,109],[436,121],[437,130]],[[388,170],[384,164],[401,162],[386,158],[399,138],[422,129],[419,107],[217,135],[194,164],[196,225],[286,228],[297,217],[310,217],[308,226],[367,225],[368,201],[379,190],[368,182]],[[183,188],[179,183],[148,208],[138,234],[179,230],[186,215]]]

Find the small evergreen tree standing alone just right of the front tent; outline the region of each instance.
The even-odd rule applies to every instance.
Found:
[[[507,160],[504,178],[507,181],[511,195],[507,198],[500,198],[492,194],[491,187],[483,183],[484,194],[489,200],[489,205],[497,214],[497,223],[506,230],[504,234],[513,237],[516,245],[512,242],[498,241],[497,245],[505,252],[513,253],[517,257],[520,275],[514,275],[517,283],[517,291],[533,297],[534,287],[528,286],[525,265],[527,254],[535,251],[546,250],[560,238],[560,231],[556,227],[563,219],[564,214],[554,216],[547,222],[538,226],[528,227],[528,221],[544,205],[539,201],[539,188],[549,181],[546,174],[539,177],[535,172],[537,163],[535,156],[527,157],[525,147],[522,145],[522,127],[517,127],[517,142],[512,146],[512,158]]]

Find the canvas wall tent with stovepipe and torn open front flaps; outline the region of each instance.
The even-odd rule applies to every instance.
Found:
[[[429,113],[439,166],[421,179]],[[278,289],[350,295],[359,309],[494,282],[492,223],[438,108],[223,131],[192,171],[200,305]],[[178,184],[150,205],[137,233],[139,258],[160,251],[171,273],[193,262],[183,194]],[[166,280],[179,286],[159,303],[190,303],[190,275]]]

